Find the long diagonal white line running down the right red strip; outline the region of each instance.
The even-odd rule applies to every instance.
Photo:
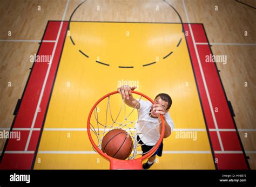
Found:
[[[187,9],[186,9],[186,5],[185,5],[184,0],[182,0],[182,2],[183,2],[183,7],[184,7],[184,10],[185,10],[185,13],[186,13],[187,22],[190,23],[190,20],[188,18]],[[193,44],[194,44],[194,50],[196,51],[197,61],[198,61],[200,72],[201,72],[201,76],[202,76],[202,79],[203,79],[203,83],[204,83],[204,87],[205,87],[205,92],[206,92],[206,95],[207,95],[208,103],[210,105],[214,126],[218,130],[219,127],[218,127],[217,120],[215,118],[215,114],[214,114],[214,111],[213,111],[212,101],[211,101],[210,94],[209,94],[209,91],[208,91],[208,88],[207,88],[207,84],[206,84],[206,81],[205,81],[205,75],[204,75],[204,71],[203,71],[203,68],[201,66],[200,57],[199,57],[199,54],[198,54],[198,51],[197,51],[196,41],[194,40],[194,34],[193,34],[193,31],[192,31],[191,25],[188,24],[188,26],[190,27],[191,37],[192,37]],[[219,131],[217,131],[217,135],[218,135],[218,140],[219,140],[219,143],[220,143],[220,148],[221,148],[221,150],[224,150],[223,143],[222,143]]]

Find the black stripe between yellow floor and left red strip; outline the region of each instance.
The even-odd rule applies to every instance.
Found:
[[[61,21],[60,21],[60,22],[61,22]],[[67,22],[67,21],[66,21],[66,22]],[[63,29],[63,28],[62,28],[62,29]],[[60,32],[62,32],[62,31],[60,31]],[[50,105],[50,101],[51,101],[51,96],[52,96],[53,87],[54,87],[54,85],[55,85],[56,77],[57,77],[57,74],[58,74],[59,64],[60,64],[60,60],[61,60],[61,58],[62,58],[62,52],[63,52],[63,49],[64,49],[64,45],[65,45],[67,33],[68,33],[68,26],[66,27],[66,33],[65,33],[65,37],[64,37],[64,41],[63,41],[63,45],[62,45],[62,51],[60,52],[60,55],[59,55],[58,66],[57,66],[57,69],[56,69],[56,72],[55,72],[55,77],[54,77],[53,82],[52,82],[51,92],[50,92],[48,104],[47,104],[47,106],[46,106],[46,110],[45,110],[45,113],[44,113],[44,119],[43,119],[43,123],[42,123],[42,126],[41,126],[40,134],[39,134],[39,137],[38,137],[37,146],[36,146],[36,150],[35,150],[35,153],[34,153],[34,157],[33,157],[32,165],[31,165],[31,169],[33,169],[34,166],[35,166],[36,157],[37,157],[39,145],[40,145],[41,138],[42,138],[42,134],[43,134],[45,119],[46,119],[46,116],[47,116],[47,113],[48,113],[48,109],[49,109],[49,105]],[[58,44],[57,44],[57,45],[58,45]]]

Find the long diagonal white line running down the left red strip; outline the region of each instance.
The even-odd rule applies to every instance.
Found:
[[[65,11],[64,11],[63,16],[62,16],[62,20],[64,20],[64,18],[65,18],[66,10],[68,9],[68,5],[69,5],[69,0],[66,2],[66,7],[65,7]],[[55,51],[56,51],[57,44],[58,44],[58,41],[59,41],[59,35],[60,35],[60,32],[62,31],[62,26],[63,26],[63,21],[61,21],[60,26],[59,26],[59,31],[58,31],[57,39],[56,39],[56,42],[55,42],[55,45],[54,45],[54,48],[53,48],[53,51],[52,51],[52,54],[51,54],[50,64],[48,66],[48,69],[47,69],[47,72],[46,72],[46,75],[45,75],[45,78],[44,78],[43,87],[42,87],[42,90],[41,90],[41,93],[40,93],[40,96],[39,96],[39,99],[38,99],[38,103],[37,103],[36,109],[38,109],[40,107],[40,105],[41,105],[41,101],[42,101],[42,98],[43,98],[43,95],[44,95],[45,85],[46,85],[46,82],[48,80],[48,76],[49,76],[51,65],[52,65],[52,60],[53,60],[53,57],[55,56]],[[38,110],[35,111],[35,115],[33,117],[31,128],[33,128],[35,126],[37,114],[38,114]],[[26,141],[25,151],[28,150],[30,139],[31,139],[31,135],[32,135],[32,131],[29,132],[28,140]]]

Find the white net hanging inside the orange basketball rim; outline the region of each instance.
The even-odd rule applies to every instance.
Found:
[[[133,97],[136,98],[138,102],[140,102],[141,99],[147,100],[136,93],[133,93]],[[93,113],[90,118],[90,131],[93,132],[91,133],[92,139],[100,150],[102,150],[102,140],[104,135],[107,132],[118,128],[129,133],[133,140],[133,151],[128,157],[128,160],[136,159],[136,157],[150,152],[149,150],[142,153],[141,146],[149,143],[151,143],[151,145],[152,143],[156,144],[157,141],[147,141],[142,143],[141,140],[151,131],[156,129],[158,130],[160,123],[156,123],[153,126],[151,125],[150,128],[147,128],[147,123],[145,123],[145,121],[148,121],[151,118],[151,111],[149,110],[149,112],[144,114],[144,116],[139,116],[139,112],[136,109],[137,105],[135,107],[127,106],[124,99],[122,99],[119,94],[114,94],[103,99],[98,103],[95,109],[93,109]],[[144,123],[143,125],[140,125],[140,128],[137,128],[136,124],[140,123],[142,118]]]

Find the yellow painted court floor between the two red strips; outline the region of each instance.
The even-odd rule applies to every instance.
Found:
[[[181,24],[71,21],[59,63],[35,169],[108,169],[86,122],[92,105],[125,81],[152,99],[165,92],[173,100],[176,131],[152,169],[215,169]],[[182,138],[182,129],[196,139]]]

